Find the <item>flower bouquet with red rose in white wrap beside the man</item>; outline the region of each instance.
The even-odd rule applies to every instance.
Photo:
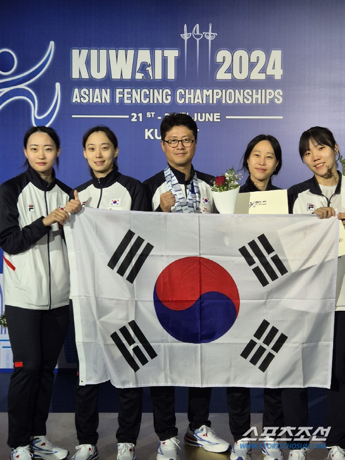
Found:
[[[214,178],[212,197],[217,210],[221,214],[233,214],[240,191],[242,174],[235,173],[234,167],[228,169],[222,176]]]

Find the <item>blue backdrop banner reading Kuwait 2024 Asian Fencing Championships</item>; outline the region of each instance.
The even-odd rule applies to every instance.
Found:
[[[0,182],[43,124],[68,185],[89,177],[81,140],[97,124],[118,136],[120,171],[144,180],[166,165],[159,127],[178,111],[197,121],[199,171],[239,169],[247,143],[271,134],[287,188],[311,176],[302,131],[327,126],[345,145],[344,38],[342,0],[3,0]]]

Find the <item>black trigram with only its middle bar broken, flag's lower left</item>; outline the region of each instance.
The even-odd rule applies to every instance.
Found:
[[[152,346],[149,344],[148,340],[146,339],[145,335],[139,328],[136,321],[134,320],[130,321],[128,325],[132,329],[132,331],[130,331],[127,326],[122,326],[119,329],[126,343],[123,342],[120,335],[116,331],[113,332],[110,337],[115,342],[117,348],[123,354],[123,357],[126,359],[128,364],[132,367],[134,372],[137,372],[140,369],[140,366],[138,362],[132,356],[132,353],[135,354],[135,356],[138,358],[138,361],[140,362],[142,366],[148,363],[147,356],[150,359],[153,359],[157,356],[157,353],[154,351]],[[146,354],[144,354],[144,352],[141,350],[139,345],[136,345],[136,341],[132,337],[132,333],[134,333],[134,335],[137,337],[138,341],[140,342]],[[135,345],[135,347],[133,347],[133,345]]]

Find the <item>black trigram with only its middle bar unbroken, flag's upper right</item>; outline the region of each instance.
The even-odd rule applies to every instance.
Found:
[[[256,240],[258,240],[260,245]],[[285,275],[285,273],[287,273],[287,269],[280,260],[279,256],[274,253],[274,248],[272,248],[271,243],[264,234],[258,236],[256,240],[249,241],[249,243],[242,246],[239,251],[249,267],[252,268],[256,278],[260,281],[262,286],[265,287],[270,283],[267,275],[271,281],[275,281],[279,278],[279,276]],[[266,274],[262,269],[265,270]]]

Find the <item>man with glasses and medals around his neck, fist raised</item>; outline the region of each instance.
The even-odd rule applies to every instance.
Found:
[[[214,177],[193,168],[198,128],[185,113],[171,113],[161,123],[161,146],[168,160],[164,171],[143,182],[149,203],[157,212],[215,212],[211,186]],[[193,283],[193,280],[190,280]],[[220,439],[208,420],[210,388],[190,388],[189,426],[186,444],[208,452],[225,452],[229,443]],[[176,460],[174,387],[151,387],[154,428],[160,439],[157,460]]]

